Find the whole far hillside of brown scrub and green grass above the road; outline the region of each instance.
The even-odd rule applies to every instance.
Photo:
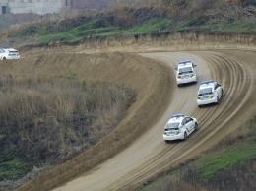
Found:
[[[92,37],[169,32],[254,34],[256,3],[252,0],[160,0],[142,4],[139,1],[138,4],[120,3],[104,12],[64,16],[60,13],[55,18],[12,30],[2,43],[78,44]]]

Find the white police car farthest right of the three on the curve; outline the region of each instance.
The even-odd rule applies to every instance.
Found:
[[[213,80],[203,81],[197,93],[197,105],[218,104],[224,94],[223,87]]]

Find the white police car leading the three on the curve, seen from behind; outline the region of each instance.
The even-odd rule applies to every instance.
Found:
[[[178,87],[181,84],[197,83],[196,66],[190,60],[180,61],[178,63],[178,68],[175,68]]]

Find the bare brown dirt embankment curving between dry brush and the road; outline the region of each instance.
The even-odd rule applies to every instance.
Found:
[[[32,52],[28,52],[19,61],[1,63],[1,70],[12,73],[26,71],[49,77],[73,72],[85,80],[129,87],[138,94],[125,119],[94,148],[18,190],[49,190],[128,147],[158,120],[165,109],[164,102],[170,99],[169,91],[172,86],[172,77],[169,75],[171,71],[166,65],[139,55],[125,53],[33,55]]]

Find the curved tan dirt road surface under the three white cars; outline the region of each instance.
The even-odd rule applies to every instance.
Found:
[[[255,52],[223,50],[141,55],[160,60],[171,68],[179,60],[191,59],[197,64],[199,82],[214,79],[223,85],[224,96],[219,105],[197,107],[199,82],[180,88],[173,86],[171,100],[166,102],[167,109],[156,124],[118,155],[56,191],[135,190],[160,172],[196,157],[230,132],[239,131],[241,124],[255,114]],[[185,142],[166,144],[162,130],[169,116],[176,113],[196,117],[200,129]]]

